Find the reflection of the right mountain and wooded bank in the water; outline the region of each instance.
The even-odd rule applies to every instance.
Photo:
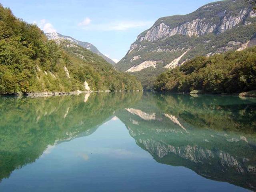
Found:
[[[148,94],[117,116],[157,162],[255,190],[255,102],[208,97]]]

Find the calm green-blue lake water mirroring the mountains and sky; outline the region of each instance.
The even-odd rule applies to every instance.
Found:
[[[0,191],[256,190],[256,100],[0,97]]]

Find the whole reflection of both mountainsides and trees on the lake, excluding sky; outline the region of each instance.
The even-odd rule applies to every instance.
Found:
[[[0,98],[0,180],[116,118],[157,162],[256,189],[255,100],[137,92]]]

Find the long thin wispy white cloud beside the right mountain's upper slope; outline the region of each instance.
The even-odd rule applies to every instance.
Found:
[[[90,26],[83,26],[83,29],[102,30],[102,31],[122,31],[122,30],[131,29],[131,28],[149,27],[152,24],[153,22],[149,22],[149,21],[118,21],[118,22],[109,22],[105,24],[91,24]]]

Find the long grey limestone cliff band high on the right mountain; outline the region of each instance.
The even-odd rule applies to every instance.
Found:
[[[240,24],[240,22],[244,21],[248,16],[253,17],[254,15],[252,12],[250,12],[250,10],[250,8],[244,8],[235,15],[232,15],[232,12],[223,10],[218,12],[215,16],[220,18],[218,22],[214,22],[214,17],[212,17],[210,20],[208,18],[196,18],[175,27],[170,27],[165,22],[161,22],[160,24],[156,23],[146,32],[145,35],[139,35],[136,42],[153,42],[162,38],[174,36],[176,34],[181,34],[184,36],[187,35],[190,37],[201,36],[212,32],[220,34],[226,30],[234,28]],[[132,44],[129,52],[131,52],[137,46],[137,43]]]

